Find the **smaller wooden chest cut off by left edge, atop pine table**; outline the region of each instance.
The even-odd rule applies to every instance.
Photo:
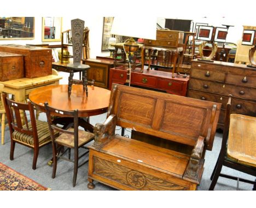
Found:
[[[24,56],[20,54],[0,52],[0,81],[8,81],[24,77]]]

